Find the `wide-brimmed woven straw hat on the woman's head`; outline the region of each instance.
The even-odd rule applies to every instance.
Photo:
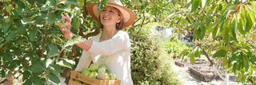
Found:
[[[99,12],[98,12],[98,3],[90,3],[87,6],[88,13],[94,17],[94,20],[99,21]],[[114,8],[117,8],[122,13],[122,21],[123,21],[123,28],[128,27],[129,25],[133,24],[135,21],[135,14],[132,10],[126,8],[122,5],[122,2],[120,0],[108,0],[107,6],[112,6]]]

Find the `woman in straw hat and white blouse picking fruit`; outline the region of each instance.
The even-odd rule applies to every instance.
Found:
[[[121,79],[122,85],[132,85],[130,75],[130,38],[122,29],[131,25],[135,20],[135,14],[130,9],[122,6],[119,0],[108,0],[108,5],[97,11],[98,3],[87,6],[89,14],[102,27],[102,32],[90,40],[79,41],[76,45],[82,48],[82,56],[75,71],[88,68],[90,62],[105,64],[110,73],[114,73],[117,79]],[[64,21],[66,20],[66,21]],[[71,39],[74,34],[70,32],[70,17],[66,14],[62,17],[66,29],[60,27],[66,39]]]

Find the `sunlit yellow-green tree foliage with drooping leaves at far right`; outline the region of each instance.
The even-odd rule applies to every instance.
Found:
[[[186,5],[186,6],[185,6]],[[181,0],[174,2],[171,26],[193,32],[197,48],[189,48],[190,62],[198,51],[222,59],[223,68],[234,72],[238,82],[256,81],[255,76],[255,12],[254,0]]]

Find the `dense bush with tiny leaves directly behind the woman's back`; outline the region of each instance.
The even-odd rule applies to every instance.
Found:
[[[154,41],[146,29],[131,32],[131,75],[135,85],[177,85],[177,75],[171,69],[172,58],[162,44]]]

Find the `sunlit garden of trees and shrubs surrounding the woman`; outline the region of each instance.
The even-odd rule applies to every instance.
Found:
[[[120,1],[136,15],[124,29],[134,85],[190,84],[178,68],[200,82],[256,84],[255,0]],[[83,51],[74,44],[100,30],[86,10],[94,2],[98,10],[108,4],[0,0],[0,84],[58,85],[60,77],[69,79]],[[58,28],[64,13],[78,35],[70,41]]]

